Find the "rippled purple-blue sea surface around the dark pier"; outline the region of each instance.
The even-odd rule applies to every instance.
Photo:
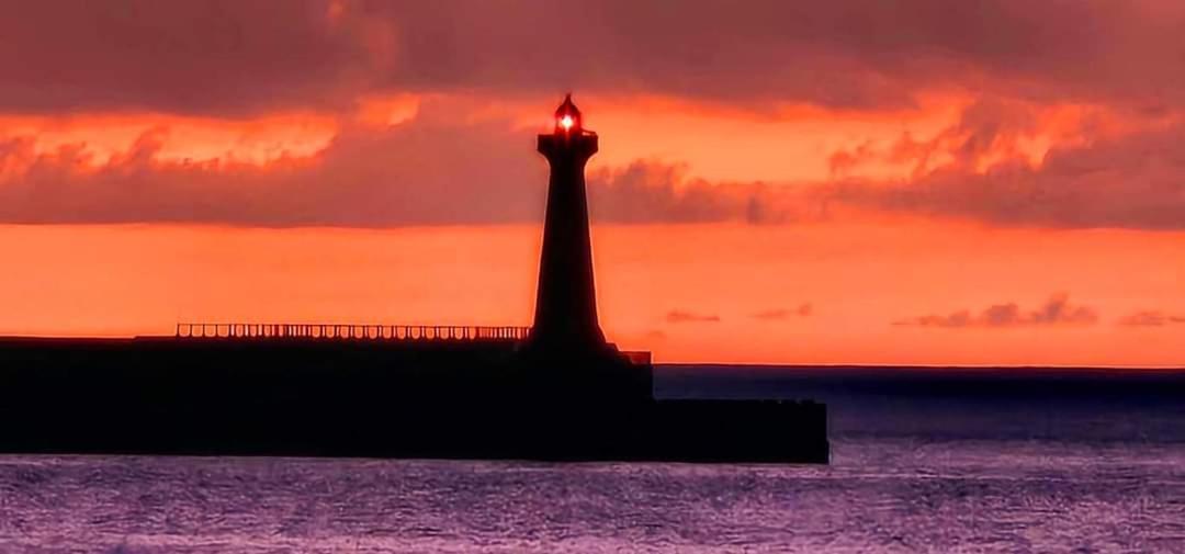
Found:
[[[826,401],[833,463],[0,456],[0,553],[1185,552],[1185,373],[671,366],[655,388]]]

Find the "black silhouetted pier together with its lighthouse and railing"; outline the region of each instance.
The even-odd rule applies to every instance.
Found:
[[[786,463],[828,459],[826,407],[661,400],[597,320],[571,96],[532,327],[179,323],[173,336],[0,337],[0,451]]]

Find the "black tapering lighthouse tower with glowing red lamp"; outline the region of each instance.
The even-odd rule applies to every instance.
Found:
[[[584,129],[572,95],[556,109],[555,124],[552,133],[539,135],[551,180],[530,347],[549,357],[587,356],[607,350],[596,316],[584,192],[584,165],[597,152],[597,136]]]

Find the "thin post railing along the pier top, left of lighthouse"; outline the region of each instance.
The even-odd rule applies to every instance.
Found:
[[[521,341],[530,327],[342,323],[178,323],[179,339],[325,339],[372,341]]]

